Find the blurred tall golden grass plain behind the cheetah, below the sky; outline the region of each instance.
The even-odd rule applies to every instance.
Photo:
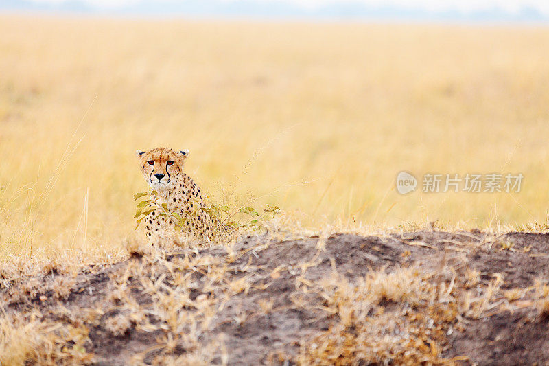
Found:
[[[0,17],[0,257],[135,236],[133,152],[305,225],[546,222],[549,29]],[[397,172],[522,172],[519,194]]]

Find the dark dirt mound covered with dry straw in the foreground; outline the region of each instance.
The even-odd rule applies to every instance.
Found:
[[[0,296],[12,334],[51,335],[26,362],[541,364],[546,253],[549,236],[528,233],[250,237],[51,270]]]

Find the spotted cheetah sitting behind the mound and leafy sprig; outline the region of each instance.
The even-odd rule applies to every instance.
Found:
[[[202,204],[200,188],[183,172],[189,150],[174,151],[170,148],[154,148],[147,152],[135,152],[145,181],[158,193],[159,201],[167,204],[168,211],[189,219],[183,225],[182,234],[202,242],[230,240],[235,229],[219,225],[209,214],[196,205]],[[196,212],[196,214],[189,214]],[[150,244],[176,238],[175,222],[169,216],[159,216],[156,209],[145,217],[145,236]]]

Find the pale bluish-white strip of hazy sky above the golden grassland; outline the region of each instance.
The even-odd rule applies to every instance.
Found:
[[[549,23],[549,5],[515,1],[2,0],[0,13],[273,20]]]

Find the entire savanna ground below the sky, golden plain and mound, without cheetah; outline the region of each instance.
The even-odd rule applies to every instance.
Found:
[[[476,336],[549,361],[549,242],[507,234],[549,228],[548,58],[547,27],[0,16],[0,363],[484,364]],[[281,214],[143,246],[157,146]],[[524,181],[402,195],[401,171]]]

